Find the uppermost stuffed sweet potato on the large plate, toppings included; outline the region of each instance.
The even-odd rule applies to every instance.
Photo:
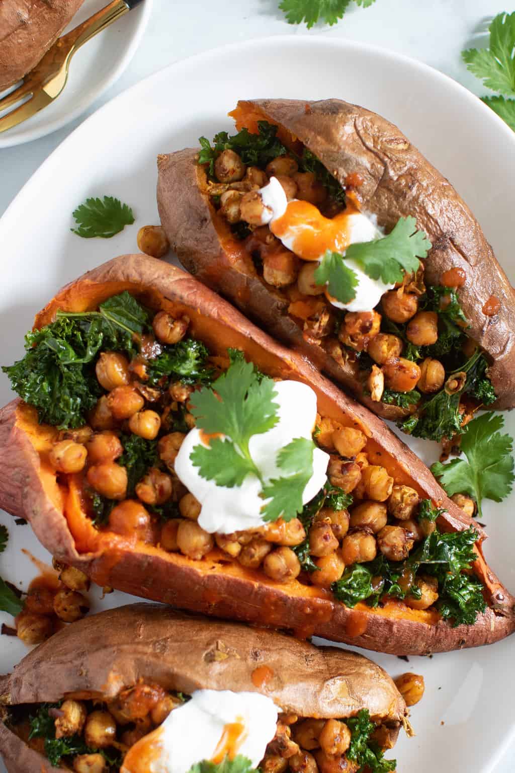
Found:
[[[398,128],[341,100],[231,115],[238,135],[158,158],[188,271],[408,434],[441,441],[482,405],[513,407],[513,290]]]

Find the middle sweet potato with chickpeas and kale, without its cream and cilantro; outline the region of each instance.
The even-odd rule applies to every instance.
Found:
[[[126,291],[132,297],[120,295]],[[72,323],[85,325],[81,314],[98,309],[101,313],[88,317],[88,325],[97,324],[108,311],[113,319],[115,312],[123,312],[127,298],[130,304],[134,298],[139,303],[129,306],[133,318],[138,308],[160,311],[151,328],[157,339],[141,334],[141,351],[130,365],[125,360],[126,386],[120,392],[103,381],[111,391],[100,389],[97,378],[106,375],[106,363],[118,367],[124,362],[120,352],[113,359],[103,351],[97,359],[100,339],[90,365],[79,366],[86,368],[82,376],[73,371],[74,378],[84,379],[82,386],[97,390],[92,402],[86,404],[87,390],[77,398],[67,382],[59,383],[61,359],[53,392],[48,373],[41,370],[49,367],[49,351],[64,352],[65,361],[71,361],[68,346],[73,345],[83,362],[78,338],[86,335],[93,346],[99,331],[93,326],[74,329]],[[102,306],[107,299],[109,309]],[[181,383],[181,376],[172,375],[169,382],[168,376],[159,375],[164,360],[155,355],[163,321],[182,336],[164,346],[165,359],[180,352],[195,357],[202,352],[199,347],[207,347],[189,385],[184,377]],[[66,335],[67,342],[59,339]],[[111,351],[124,346],[130,347],[130,341],[104,343]],[[36,407],[21,400],[2,409],[0,506],[28,519],[58,560],[80,568],[97,584],[180,608],[395,654],[483,645],[513,632],[513,597],[483,559],[483,530],[446,497],[422,461],[303,357],[274,342],[178,268],[126,255],[88,272],[39,312],[28,347],[25,359],[8,368],[8,375],[38,406],[40,421],[64,428],[39,424]],[[195,424],[190,410],[198,380],[208,378],[209,367],[228,373],[228,347],[232,359],[239,359],[234,352],[239,349],[261,373],[314,390],[318,415],[313,438],[328,451],[330,463],[326,486],[297,511],[298,517],[291,519],[294,509],[285,510],[275,523],[250,532],[217,533],[213,539],[194,523],[202,508],[178,480],[174,464],[185,433]],[[87,370],[93,366],[93,373]],[[156,369],[158,379],[153,381]],[[130,410],[115,410],[120,394],[127,393],[136,400],[133,414],[146,401],[154,411],[137,416],[161,415],[159,438],[145,441],[139,457],[141,438],[127,435]],[[115,420],[120,415],[125,418]],[[90,426],[82,426],[85,421],[96,430],[93,436]],[[102,457],[99,444],[104,443]],[[63,454],[70,449],[75,456],[68,466]],[[107,471],[101,468],[103,478],[100,457],[120,461],[110,461]],[[441,551],[449,550],[458,551],[458,570],[436,564],[442,568],[439,574],[431,564],[420,563],[424,552],[425,560],[432,556],[442,561]]]

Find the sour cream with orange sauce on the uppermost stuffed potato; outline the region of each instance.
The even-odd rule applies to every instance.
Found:
[[[259,192],[265,205],[262,223],[270,226],[270,230],[280,239],[284,247],[299,257],[307,259],[307,255],[303,254],[302,242],[309,240],[309,259],[313,260],[312,250],[313,245],[316,245],[317,254],[314,259],[319,261],[326,250],[341,251],[345,263],[356,274],[355,297],[348,303],[341,303],[336,298],[327,296],[332,305],[344,308],[347,312],[371,312],[381,300],[381,295],[395,287],[394,284],[385,284],[381,279],[372,279],[355,261],[345,259],[345,246],[381,239],[385,236],[378,227],[375,216],[350,208],[348,212],[337,215],[332,221],[327,220],[313,204],[300,203],[296,199],[289,203],[283,186],[276,177],[272,177],[268,185],[261,188]],[[307,213],[307,217],[301,220],[296,216],[295,211],[300,204]],[[326,223],[330,225],[324,229],[323,226]],[[334,226],[341,226],[340,233],[337,229],[335,233]]]

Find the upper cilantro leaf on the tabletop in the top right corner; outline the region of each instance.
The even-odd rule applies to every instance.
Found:
[[[488,48],[462,51],[463,61],[487,88],[506,96],[515,96],[515,11],[497,14],[489,31]]]

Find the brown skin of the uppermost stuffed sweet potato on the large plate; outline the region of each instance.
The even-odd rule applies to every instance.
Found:
[[[348,175],[361,180],[357,192],[363,208],[375,213],[381,226],[391,229],[399,217],[415,216],[418,227],[425,230],[433,245],[425,259],[429,283],[438,284],[441,274],[449,268],[461,267],[465,271],[459,300],[470,322],[469,335],[493,362],[490,378],[498,396],[494,407],[513,407],[515,294],[479,223],[449,181],[394,124],[364,107],[335,99],[252,100],[239,104],[243,112],[259,113],[265,120],[284,127],[317,155],[342,185]],[[181,263],[240,308],[248,308],[269,332],[353,389],[379,415],[405,415],[406,411],[395,406],[374,404],[364,398],[363,386],[351,366],[342,369],[320,347],[304,341],[300,327],[286,316],[287,301],[277,298],[255,272],[242,275],[241,263],[235,266],[230,257],[220,254],[223,247],[205,223],[209,207],[207,197],[195,186],[195,163],[195,150],[191,149],[158,158],[161,222]],[[482,311],[491,296],[500,301],[500,311],[494,317]]]

